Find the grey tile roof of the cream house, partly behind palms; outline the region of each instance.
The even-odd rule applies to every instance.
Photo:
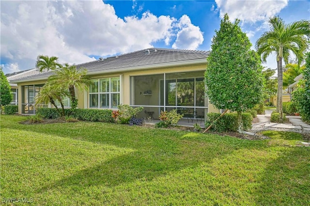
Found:
[[[113,56],[106,59],[77,64],[77,68],[84,67],[88,74],[99,74],[117,72],[124,70],[136,70],[143,68],[169,67],[170,65],[186,65],[186,62],[201,60],[202,62],[209,55],[209,51],[148,48],[135,52]],[[189,64],[189,63],[188,63]],[[39,73],[31,76],[15,78],[14,81],[31,81],[36,79],[47,79],[52,72]]]

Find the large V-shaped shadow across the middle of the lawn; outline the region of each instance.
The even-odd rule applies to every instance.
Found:
[[[248,141],[211,134],[129,127],[100,122],[46,125],[7,125],[7,128],[79,141],[132,148],[133,153],[116,156],[102,164],[80,169],[60,180],[42,183],[39,193],[53,190],[82,191],[92,186],[114,187],[196,167],[202,162],[230,155],[238,149],[264,149],[266,141]],[[54,147],[51,145],[51,147]],[[57,148],[55,148],[57,151]],[[62,176],[60,176],[62,177]],[[44,185],[43,185],[44,184]]]

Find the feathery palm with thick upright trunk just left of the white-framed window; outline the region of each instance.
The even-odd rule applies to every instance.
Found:
[[[55,70],[55,74],[48,78],[49,83],[55,90],[68,90],[71,100],[71,108],[77,108],[78,99],[75,88],[78,90],[87,89],[93,82],[86,75],[85,68],[77,69],[76,65],[64,64],[61,69]]]

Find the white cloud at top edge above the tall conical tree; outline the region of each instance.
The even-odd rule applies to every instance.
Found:
[[[228,13],[231,20],[239,18],[244,22],[266,21],[279,14],[288,0],[215,0],[220,17]]]

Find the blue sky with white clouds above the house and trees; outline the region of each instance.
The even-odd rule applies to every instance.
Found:
[[[78,64],[150,47],[210,50],[227,13],[253,44],[268,19],[310,19],[310,0],[1,0],[4,74],[35,67],[38,55]],[[277,67],[271,55],[265,67]]]

